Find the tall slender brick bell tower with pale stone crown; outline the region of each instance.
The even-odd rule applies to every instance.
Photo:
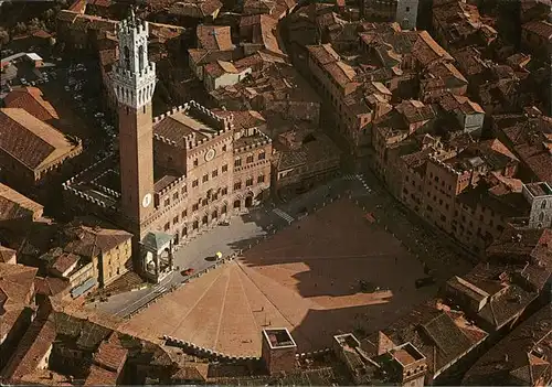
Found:
[[[134,12],[117,26],[119,61],[112,73],[118,101],[121,209],[142,233],[153,212],[153,127],[151,97],[156,64],[148,62],[149,26]],[[140,235],[141,237],[141,235]]]

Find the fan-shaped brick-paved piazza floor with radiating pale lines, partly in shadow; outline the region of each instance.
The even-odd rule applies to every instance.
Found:
[[[126,330],[234,356],[258,356],[268,326],[287,327],[299,352],[379,330],[436,289],[415,289],[422,264],[365,215],[350,200],[333,202],[166,294]]]

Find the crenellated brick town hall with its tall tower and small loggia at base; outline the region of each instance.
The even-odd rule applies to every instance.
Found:
[[[172,246],[268,194],[273,151],[265,133],[236,129],[231,112],[216,115],[193,100],[153,118],[148,34],[148,22],[134,13],[117,26],[118,159],[96,162],[64,190],[82,208],[132,233],[141,247],[138,271],[159,281],[173,269]]]

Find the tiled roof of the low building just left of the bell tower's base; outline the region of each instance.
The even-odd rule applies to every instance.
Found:
[[[132,234],[121,229],[76,226],[66,233],[74,239],[65,245],[64,250],[83,257],[97,257],[131,239]]]

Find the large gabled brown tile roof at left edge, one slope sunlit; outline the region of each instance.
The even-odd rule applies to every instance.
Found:
[[[0,109],[0,148],[31,170],[46,166],[76,147],[63,133],[19,108]]]

